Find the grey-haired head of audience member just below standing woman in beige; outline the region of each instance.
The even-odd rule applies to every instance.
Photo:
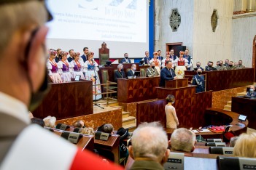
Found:
[[[168,141],[171,151],[191,153],[195,150],[195,133],[185,128],[175,129]]]

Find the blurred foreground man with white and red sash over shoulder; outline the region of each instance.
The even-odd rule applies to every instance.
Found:
[[[46,129],[30,125],[47,93],[44,23],[39,0],[0,0],[0,169],[120,169]]]

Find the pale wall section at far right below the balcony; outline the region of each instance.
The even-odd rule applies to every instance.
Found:
[[[233,59],[252,68],[252,43],[256,36],[256,12],[233,17]]]

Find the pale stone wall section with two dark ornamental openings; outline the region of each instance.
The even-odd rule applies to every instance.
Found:
[[[233,0],[161,0],[160,39],[155,42],[155,49],[166,51],[166,43],[183,42],[190,49],[194,65],[201,61],[233,60],[232,16]],[[177,8],[182,17],[177,32],[172,32],[169,25],[171,9]],[[211,17],[214,9],[219,16],[216,32],[212,32]],[[214,63],[215,65],[215,63]]]

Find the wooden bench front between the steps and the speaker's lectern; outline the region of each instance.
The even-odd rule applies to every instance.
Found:
[[[117,80],[118,102],[139,102],[157,98],[156,87],[160,77],[119,78]]]

